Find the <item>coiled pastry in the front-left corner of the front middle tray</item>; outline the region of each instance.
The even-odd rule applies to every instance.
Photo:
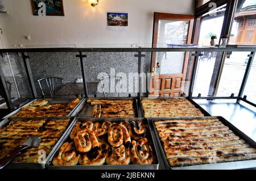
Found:
[[[76,153],[74,142],[65,142],[52,163],[55,166],[72,166],[77,165],[80,154]]]

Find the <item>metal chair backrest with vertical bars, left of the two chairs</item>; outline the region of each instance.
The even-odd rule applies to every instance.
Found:
[[[45,83],[45,85],[43,85],[43,83]],[[53,96],[56,95],[56,92],[63,88],[64,79],[59,77],[47,77],[39,79],[38,84],[44,98],[46,98],[47,95],[46,90],[48,90],[49,95],[53,98]],[[46,90],[44,91],[44,89]]]

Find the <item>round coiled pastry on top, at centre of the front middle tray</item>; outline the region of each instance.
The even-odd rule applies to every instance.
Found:
[[[129,146],[131,138],[125,126],[122,124],[113,124],[109,128],[108,141],[113,147],[121,146],[123,142],[125,142],[126,146]]]

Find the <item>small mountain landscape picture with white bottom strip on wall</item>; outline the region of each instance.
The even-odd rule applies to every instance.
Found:
[[[107,12],[107,30],[127,31],[128,13],[127,12]]]

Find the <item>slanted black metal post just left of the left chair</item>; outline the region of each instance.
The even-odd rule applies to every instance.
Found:
[[[32,71],[30,68],[30,63],[28,61],[27,54],[22,52],[22,58],[23,58],[23,63],[24,63],[24,67],[26,70],[27,78],[28,78],[28,84],[30,85],[32,99],[35,99],[37,97],[37,94],[36,94],[35,83],[32,77]]]

